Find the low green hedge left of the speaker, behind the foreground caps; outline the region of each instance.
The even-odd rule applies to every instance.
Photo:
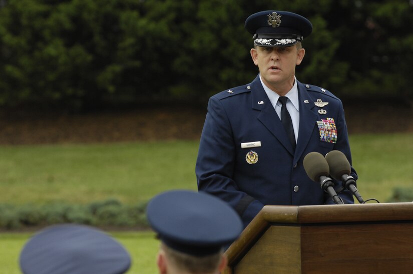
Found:
[[[0,228],[12,230],[68,222],[100,227],[147,228],[145,208],[146,203],[125,205],[116,199],[89,204],[0,204]]]

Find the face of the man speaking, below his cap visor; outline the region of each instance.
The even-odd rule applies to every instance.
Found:
[[[251,57],[258,66],[265,85],[274,91],[287,92],[294,83],[295,66],[304,57],[305,50],[292,46],[257,46],[251,48]]]

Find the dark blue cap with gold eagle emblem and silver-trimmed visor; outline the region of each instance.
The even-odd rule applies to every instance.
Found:
[[[301,41],[312,31],[311,22],[293,12],[265,10],[250,15],[245,28],[253,35],[259,46],[291,46]]]

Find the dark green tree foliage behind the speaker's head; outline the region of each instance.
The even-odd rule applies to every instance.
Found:
[[[248,15],[313,23],[301,82],[413,98],[412,0],[0,0],[0,105],[206,102],[258,73]]]

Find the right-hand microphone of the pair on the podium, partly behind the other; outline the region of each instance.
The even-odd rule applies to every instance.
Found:
[[[341,180],[343,187],[349,190],[359,203],[364,203],[355,186],[354,177],[350,176],[350,163],[344,153],[339,150],[332,150],[325,155],[325,160],[330,167],[331,176],[336,180]]]

